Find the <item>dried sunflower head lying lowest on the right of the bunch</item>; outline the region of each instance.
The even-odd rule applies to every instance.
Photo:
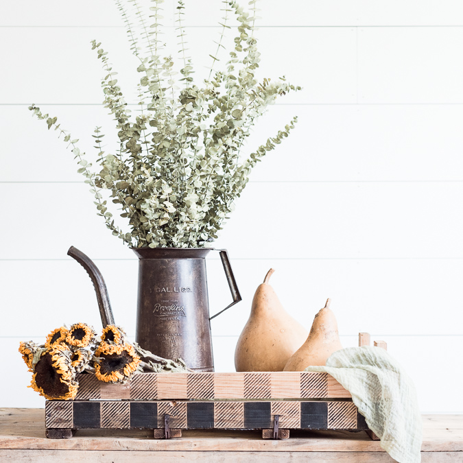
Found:
[[[105,383],[125,383],[140,364],[132,344],[100,344],[95,357],[95,376]]]

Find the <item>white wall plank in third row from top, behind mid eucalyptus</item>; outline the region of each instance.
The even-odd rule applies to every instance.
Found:
[[[46,105],[43,110],[80,139],[88,161],[97,157],[95,126],[106,134],[106,152],[117,150],[115,124],[102,106]],[[272,106],[257,121],[243,156],[295,115],[292,134],[255,167],[250,181],[463,181],[463,105]],[[10,155],[2,156],[0,182],[83,181],[67,144],[26,106],[0,106],[0,119],[10,134],[3,141]],[[27,168],[19,167],[18,157]]]

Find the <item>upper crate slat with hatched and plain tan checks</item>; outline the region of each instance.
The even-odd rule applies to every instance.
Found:
[[[78,375],[78,400],[130,399],[349,399],[351,395],[327,373],[139,373],[128,383],[105,384],[94,375]],[[117,393],[119,390],[119,394]]]

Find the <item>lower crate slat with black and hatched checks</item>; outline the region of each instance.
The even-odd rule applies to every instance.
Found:
[[[368,429],[351,401],[47,401],[47,428]]]

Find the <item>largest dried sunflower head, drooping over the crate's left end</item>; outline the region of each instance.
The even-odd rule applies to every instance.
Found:
[[[71,365],[71,351],[67,346],[58,344],[40,355],[29,387],[49,400],[75,398],[78,383]]]

